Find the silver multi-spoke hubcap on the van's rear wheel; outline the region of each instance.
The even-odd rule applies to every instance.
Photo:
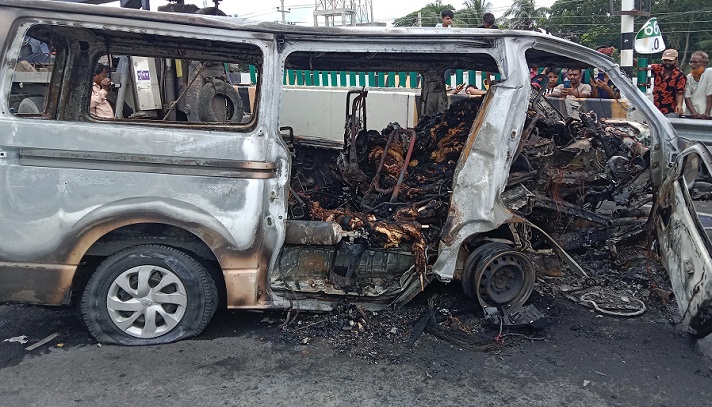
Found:
[[[183,319],[187,302],[185,286],[178,276],[152,265],[121,273],[106,296],[111,320],[136,338],[156,338],[170,332]]]

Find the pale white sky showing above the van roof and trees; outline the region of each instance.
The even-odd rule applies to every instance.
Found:
[[[198,7],[212,6],[212,0],[186,0]],[[433,0],[372,0],[373,16],[377,22],[390,24],[394,19],[403,17],[413,11],[420,10]],[[492,4],[492,13],[499,17],[512,4],[511,0],[489,0]],[[166,0],[151,0],[151,9],[166,4]],[[462,8],[462,0],[443,0],[443,3],[450,3],[455,8]],[[538,0],[537,7],[549,7],[554,0]],[[286,14],[286,21],[299,25],[314,24],[314,0],[284,0],[284,8],[289,10]],[[251,18],[260,21],[281,21],[282,14],[277,12],[280,7],[280,0],[222,0],[220,9],[228,15],[237,14],[240,17]],[[323,21],[323,18],[322,20]]]

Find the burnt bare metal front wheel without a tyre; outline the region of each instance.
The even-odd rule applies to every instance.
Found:
[[[504,243],[485,243],[465,261],[462,286],[483,307],[523,305],[536,281],[534,265],[524,253]]]

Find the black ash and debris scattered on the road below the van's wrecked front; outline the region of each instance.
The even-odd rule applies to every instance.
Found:
[[[634,317],[674,321],[678,311],[665,270],[654,260],[641,256],[636,263],[616,266],[610,255],[589,249],[574,254],[589,273],[581,278],[565,267],[560,275],[537,275],[537,286],[529,300],[554,323],[543,329],[500,328],[488,322],[482,308],[462,292],[460,284],[431,284],[420,296],[394,310],[364,311],[346,301],[329,313],[291,312],[283,325],[281,340],[300,346],[325,341],[336,352],[370,361],[398,363],[404,351],[417,346],[424,336],[447,346],[484,352],[501,352],[523,343],[547,340],[564,318],[562,301],[591,308],[603,318],[625,318],[593,310],[590,301],[604,311],[633,314],[645,304],[645,312]],[[591,285],[593,283],[593,285]],[[583,297],[583,301],[581,300]],[[428,316],[432,316],[432,319]],[[426,322],[424,322],[426,320]],[[429,320],[429,325],[427,323]],[[265,322],[277,322],[269,317]],[[286,324],[284,324],[286,322]],[[500,331],[501,329],[501,331]]]

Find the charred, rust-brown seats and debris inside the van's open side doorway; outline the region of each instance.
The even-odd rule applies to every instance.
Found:
[[[351,97],[356,95],[353,100]],[[351,91],[343,150],[295,148],[290,212],[362,230],[369,247],[409,249],[425,285],[447,218],[452,176],[481,100],[453,104],[415,129],[366,130],[366,92]],[[296,209],[296,210],[295,210]]]

